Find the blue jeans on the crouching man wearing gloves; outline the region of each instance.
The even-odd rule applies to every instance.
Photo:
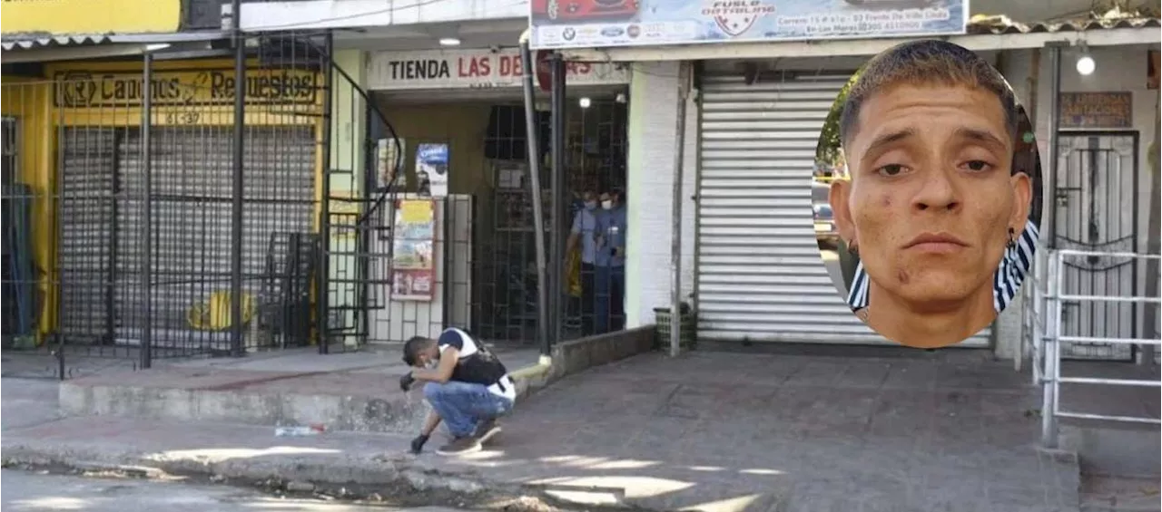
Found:
[[[482,420],[512,411],[512,401],[488,390],[485,384],[447,381],[424,384],[424,398],[457,438],[472,435]]]

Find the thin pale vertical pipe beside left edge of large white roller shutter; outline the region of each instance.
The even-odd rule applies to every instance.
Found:
[[[677,73],[677,122],[674,128],[674,188],[670,193],[670,246],[669,246],[669,355],[676,358],[682,351],[682,164],[686,145],[686,101],[689,98],[688,65],[679,63]]]

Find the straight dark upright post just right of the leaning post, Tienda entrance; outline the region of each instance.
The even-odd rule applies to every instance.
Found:
[[[565,237],[562,237],[564,231],[567,229],[568,221],[565,219],[565,130],[568,127],[567,114],[565,107],[565,59],[560,53],[554,53],[551,60],[552,63],[552,114],[553,114],[553,140],[552,140],[552,153],[553,153],[553,175],[551,179],[551,194],[552,202],[551,208],[553,209],[553,231],[552,231],[552,243],[553,247],[550,252],[550,259],[553,262],[553,277],[551,277],[550,283],[550,296],[552,297],[552,311],[550,315],[553,318],[553,340],[560,340],[564,337],[565,322],[561,320],[564,317],[564,309],[561,294],[564,291],[564,276],[565,276],[565,258],[562,252],[565,248]]]

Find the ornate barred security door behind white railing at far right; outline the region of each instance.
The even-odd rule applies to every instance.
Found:
[[[1138,250],[1138,134],[1068,132],[1059,138],[1054,203],[1057,248],[1102,253]],[[1069,257],[1063,295],[1138,295],[1133,258]],[[1064,302],[1061,336],[1138,338],[1138,307],[1129,302]],[[1132,361],[1134,345],[1062,344],[1066,359]]]

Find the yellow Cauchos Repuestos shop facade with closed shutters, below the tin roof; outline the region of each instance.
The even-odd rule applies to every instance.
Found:
[[[139,60],[60,62],[43,79],[0,84],[0,114],[20,140],[9,161],[33,187],[36,260],[51,273],[42,330],[71,342],[135,339],[145,258]],[[194,325],[192,308],[228,289],[234,128],[234,64],[157,63],[151,70],[150,194],[155,340]],[[254,67],[246,77],[245,288],[260,293],[273,233],[315,230],[320,74]],[[51,190],[51,192],[50,192]],[[43,265],[55,261],[55,265]],[[55,302],[55,303],[53,303]],[[223,333],[217,333],[222,338]],[[206,340],[207,342],[211,340]],[[224,339],[218,340],[224,344]]]

